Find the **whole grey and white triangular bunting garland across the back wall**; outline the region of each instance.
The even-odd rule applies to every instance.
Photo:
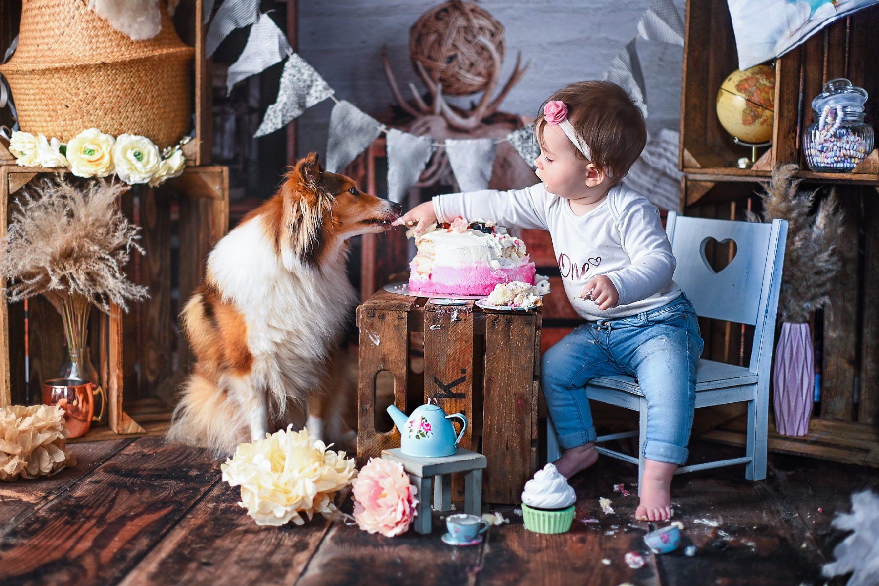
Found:
[[[447,149],[449,163],[463,191],[476,191],[487,187],[497,144],[501,141],[510,142],[519,156],[534,169],[534,160],[540,156],[540,146],[534,136],[533,122],[499,140],[447,139],[444,143],[434,142],[428,137],[388,129],[378,120],[360,111],[357,106],[333,97],[330,85],[316,69],[299,54],[293,52],[287,43],[286,34],[275,25],[272,18],[259,13],[259,0],[222,0],[213,18],[211,13],[214,11],[215,0],[203,0],[203,2],[205,22],[210,20],[207,31],[207,56],[214,54],[229,33],[237,28],[252,25],[242,54],[229,67],[226,80],[227,92],[241,80],[282,61],[285,55],[288,57],[281,73],[278,97],[266,109],[254,137],[279,130],[309,107],[326,98],[332,98],[336,105],[330,116],[326,153],[327,170],[337,172],[344,169],[382,132],[387,133],[389,197],[394,201],[401,201],[406,190],[418,182],[418,177],[425,169],[435,148]],[[673,0],[652,0],[650,7],[638,20],[637,30],[637,36],[616,55],[601,78],[617,83],[627,90],[646,118],[647,98],[636,40],[657,40],[682,47],[684,25]],[[669,137],[663,134],[651,139],[644,149],[642,159],[632,167],[627,177],[628,181],[655,184],[665,180],[663,177],[671,177],[669,181],[674,181],[672,177],[674,173],[669,171],[668,162],[665,161],[667,157],[663,158],[663,153],[666,149],[671,152],[672,148],[674,150],[676,148],[667,139]],[[671,206],[672,201],[664,200],[662,204]]]

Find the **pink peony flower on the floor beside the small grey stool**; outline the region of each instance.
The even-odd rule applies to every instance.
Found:
[[[354,520],[360,529],[387,537],[409,531],[418,499],[402,464],[370,458],[351,485]]]

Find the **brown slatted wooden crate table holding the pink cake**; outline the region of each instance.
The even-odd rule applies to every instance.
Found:
[[[376,430],[376,380],[387,371],[394,404],[407,415],[428,399],[469,426],[460,446],[485,455],[483,500],[518,503],[537,470],[541,312],[438,306],[380,290],[357,309],[360,368],[357,457],[360,466],[400,447],[396,428]],[[410,335],[425,338],[424,384],[412,370]],[[383,407],[379,407],[383,410]],[[462,481],[454,481],[461,496]]]

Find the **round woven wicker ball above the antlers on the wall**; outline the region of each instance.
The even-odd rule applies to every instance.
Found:
[[[479,42],[484,37],[504,60],[504,25],[472,2],[451,0],[426,11],[412,25],[409,52],[428,75],[439,80],[443,93],[466,96],[485,89],[494,61]]]

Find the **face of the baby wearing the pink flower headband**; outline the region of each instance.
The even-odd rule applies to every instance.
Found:
[[[534,159],[534,172],[548,192],[565,199],[578,199],[588,192],[585,180],[589,162],[576,153],[561,128],[543,125],[541,156]]]

